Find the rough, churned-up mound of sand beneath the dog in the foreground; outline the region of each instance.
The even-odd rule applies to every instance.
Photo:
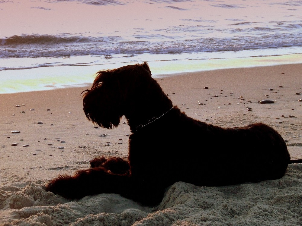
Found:
[[[260,183],[197,187],[178,182],[153,208],[117,194],[70,201],[43,187],[43,181],[1,187],[0,209],[7,216],[3,225],[302,224],[302,164],[290,165],[279,180]]]

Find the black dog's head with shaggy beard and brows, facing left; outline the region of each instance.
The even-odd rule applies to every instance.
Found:
[[[146,90],[153,78],[148,64],[128,65],[97,73],[92,88],[83,93],[83,109],[88,120],[101,127],[117,127],[123,115]]]

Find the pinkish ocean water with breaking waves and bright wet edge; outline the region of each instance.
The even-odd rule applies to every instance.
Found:
[[[155,77],[302,63],[301,0],[0,0],[0,21],[0,93],[143,61]]]

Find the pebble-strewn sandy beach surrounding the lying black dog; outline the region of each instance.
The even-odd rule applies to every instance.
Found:
[[[264,122],[287,140],[292,159],[302,159],[301,72],[301,64],[289,64],[157,80],[188,116],[222,127]],[[82,110],[84,88],[0,95],[0,225],[302,225],[302,164],[290,165],[279,180],[260,183],[197,187],[178,182],[156,207],[117,194],[71,201],[45,192],[47,180],[88,168],[96,156],[127,157],[125,119],[113,130],[94,128]],[[263,99],[275,103],[259,104]],[[198,142],[202,148],[206,141]]]

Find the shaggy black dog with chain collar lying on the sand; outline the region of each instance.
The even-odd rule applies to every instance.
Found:
[[[90,121],[108,129],[126,117],[132,132],[129,156],[128,161],[94,159],[92,168],[47,184],[47,190],[67,198],[118,193],[156,204],[177,181],[220,186],[273,180],[290,163],[284,140],[265,124],[221,128],[173,107],[147,63],[99,71],[85,91],[83,109]]]

